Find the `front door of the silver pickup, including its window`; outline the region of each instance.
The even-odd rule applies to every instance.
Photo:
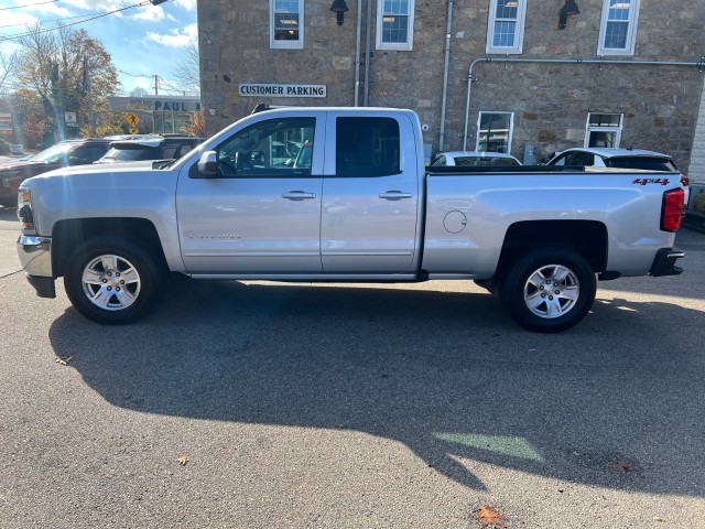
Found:
[[[215,150],[219,175],[180,179],[191,273],[319,273],[325,112],[265,119]],[[318,138],[319,137],[319,138]]]

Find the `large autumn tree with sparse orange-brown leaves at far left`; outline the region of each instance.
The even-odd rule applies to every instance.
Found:
[[[108,96],[119,87],[118,73],[102,43],[83,29],[47,30],[35,24],[20,45],[18,80],[36,95],[46,116],[55,118],[54,139],[79,131],[66,127],[65,112],[76,112],[76,125],[87,127],[94,136],[95,112],[108,111]]]

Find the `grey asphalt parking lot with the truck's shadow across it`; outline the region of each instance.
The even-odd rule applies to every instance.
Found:
[[[100,326],[18,233],[0,207],[2,528],[705,527],[704,234],[539,335],[442,281],[180,281]]]

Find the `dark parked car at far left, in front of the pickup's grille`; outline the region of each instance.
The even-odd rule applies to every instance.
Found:
[[[110,140],[106,139],[65,140],[32,156],[0,163],[0,204],[17,205],[18,187],[23,180],[54,169],[93,163],[108,149]]]

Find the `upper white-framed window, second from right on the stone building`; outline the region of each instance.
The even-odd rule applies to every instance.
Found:
[[[490,0],[486,52],[521,53],[525,19],[527,0]]]

